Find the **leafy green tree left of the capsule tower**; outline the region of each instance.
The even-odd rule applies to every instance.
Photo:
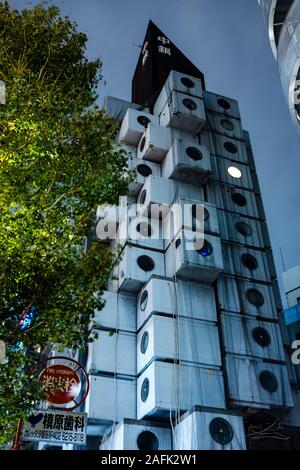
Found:
[[[84,347],[112,266],[107,246],[84,239],[96,207],[126,194],[127,155],[96,105],[101,63],[86,43],[56,7],[0,5],[0,443],[39,399],[24,351]]]

